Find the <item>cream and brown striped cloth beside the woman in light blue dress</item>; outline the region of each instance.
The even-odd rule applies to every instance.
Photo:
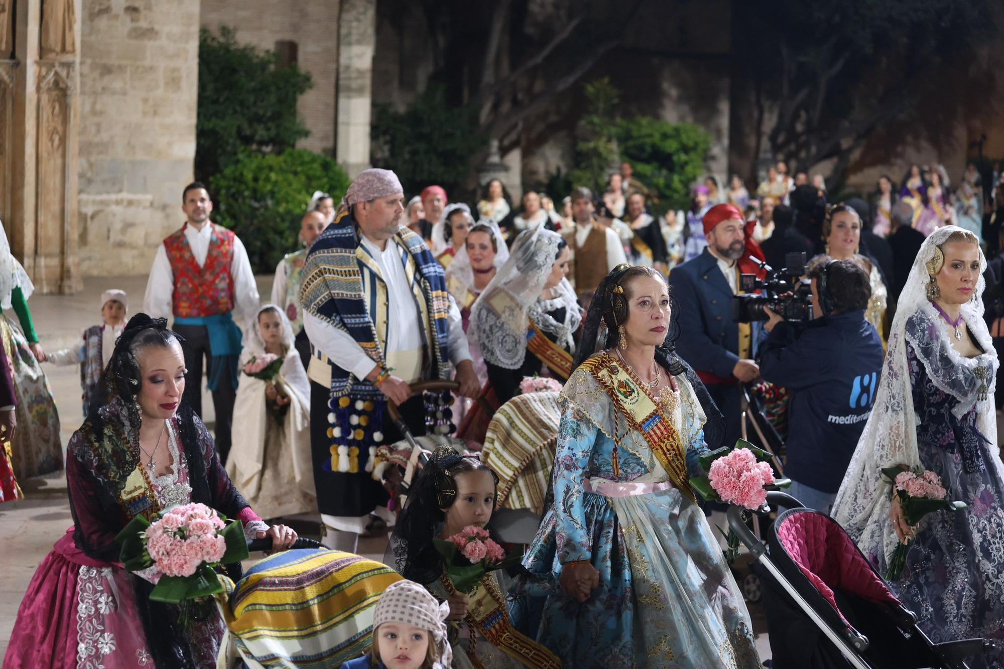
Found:
[[[557,393],[517,395],[495,412],[481,461],[498,474],[498,507],[544,512],[561,409]]]

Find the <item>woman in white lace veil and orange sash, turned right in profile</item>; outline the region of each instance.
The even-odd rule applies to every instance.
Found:
[[[523,377],[546,370],[563,383],[571,374],[582,314],[565,278],[568,255],[558,233],[543,226],[523,231],[474,303],[470,339],[485,358],[499,405],[518,394]]]

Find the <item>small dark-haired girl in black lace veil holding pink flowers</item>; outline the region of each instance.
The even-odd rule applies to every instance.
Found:
[[[505,595],[490,571],[506,562],[484,531],[495,509],[497,483],[495,472],[477,457],[437,448],[412,484],[394,529],[398,571],[449,606],[456,669],[560,667],[550,651],[512,627]],[[452,549],[444,548],[448,543]],[[477,574],[477,565],[484,567],[483,574]]]

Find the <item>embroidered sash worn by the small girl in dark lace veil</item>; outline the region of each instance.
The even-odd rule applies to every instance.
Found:
[[[447,592],[456,593],[449,579],[444,577],[441,579],[441,583]],[[559,669],[561,667],[561,660],[554,653],[512,626],[505,598],[499,592],[498,583],[492,574],[486,574],[481,583],[478,584],[474,594],[471,595],[471,603],[464,620],[477,629],[491,645],[522,662],[530,669]],[[474,643],[475,640],[472,638],[472,647]],[[468,659],[475,667],[484,669],[484,664],[473,652],[473,648],[472,652],[468,653]]]

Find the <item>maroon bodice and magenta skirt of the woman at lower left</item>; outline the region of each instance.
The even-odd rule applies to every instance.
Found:
[[[156,568],[129,574],[118,564],[115,536],[136,515],[153,519],[192,501],[243,520],[249,537],[267,525],[230,482],[191,408],[182,404],[169,421],[174,464],[156,478],[140,461],[135,413],[116,398],[73,433],[66,482],[74,525],[28,585],[4,667],[217,666],[224,627],[215,610],[192,629],[179,624],[179,607],[150,599]]]

